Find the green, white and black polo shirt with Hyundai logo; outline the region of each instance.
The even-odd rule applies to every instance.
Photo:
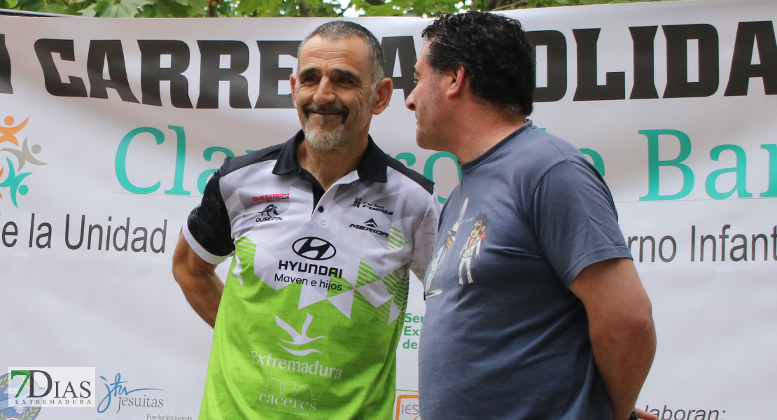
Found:
[[[303,140],[228,158],[183,227],[205,261],[233,255],[201,420],[391,416],[409,270],[423,279],[431,259],[437,194],[372,139],[324,191],[298,164]]]

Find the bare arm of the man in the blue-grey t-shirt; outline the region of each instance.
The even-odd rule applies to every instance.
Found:
[[[650,299],[631,259],[587,266],[570,290],[588,314],[594,358],[610,395],[613,420],[626,420],[656,353]]]

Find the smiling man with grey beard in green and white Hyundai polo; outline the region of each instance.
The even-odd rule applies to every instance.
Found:
[[[214,326],[200,419],[390,417],[438,212],[432,183],[368,135],[392,95],[383,61],[355,23],[314,30],[291,76],[302,130],[228,158],[183,226],[173,275]]]

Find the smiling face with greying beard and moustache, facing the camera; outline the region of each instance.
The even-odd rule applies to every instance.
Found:
[[[367,44],[358,36],[328,40],[314,36],[302,47],[291,92],[308,144],[346,148],[366,139],[373,113]]]

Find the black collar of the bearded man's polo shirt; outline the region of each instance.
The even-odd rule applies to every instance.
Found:
[[[286,175],[290,172],[299,172],[301,166],[297,161],[297,144],[305,140],[305,133],[299,130],[294,137],[291,137],[280,147],[278,160],[273,168],[274,175]],[[367,136],[367,149],[364,150],[364,156],[361,157],[357,174],[359,179],[375,182],[386,182],[386,168],[389,165],[389,158],[378,148],[372,137]]]

